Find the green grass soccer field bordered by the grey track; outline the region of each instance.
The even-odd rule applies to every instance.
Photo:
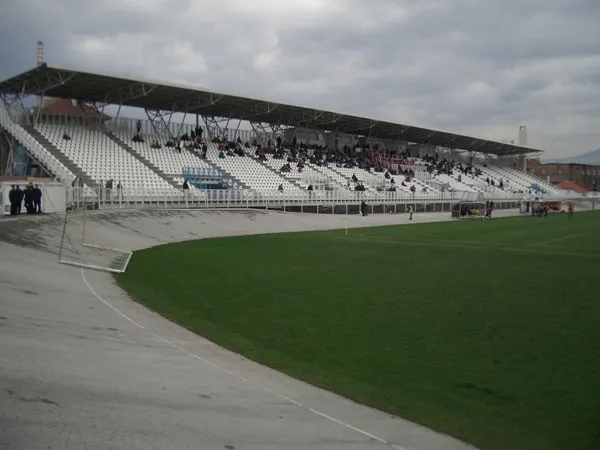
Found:
[[[117,281],[255,361],[489,450],[600,448],[600,214],[206,239]]]

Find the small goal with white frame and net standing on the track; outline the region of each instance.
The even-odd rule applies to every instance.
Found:
[[[132,252],[112,248],[94,233],[94,221],[85,209],[68,211],[63,223],[58,262],[111,273],[127,270]]]

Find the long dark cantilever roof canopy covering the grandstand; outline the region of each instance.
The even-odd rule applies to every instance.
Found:
[[[541,152],[514,144],[445,131],[222,94],[189,86],[89,73],[47,64],[0,82],[0,92],[13,95],[43,94],[48,97],[120,104],[148,110],[169,110],[211,117],[230,117],[254,122],[302,126],[313,130],[428,143],[494,155]]]

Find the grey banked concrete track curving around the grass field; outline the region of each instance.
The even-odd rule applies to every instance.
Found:
[[[348,218],[349,227],[407,222]],[[72,223],[78,232],[81,217]],[[344,218],[97,212],[86,226],[91,242],[141,249],[341,228]],[[58,264],[61,230],[60,217],[0,221],[0,449],[472,448],[248,361],[134,303],[110,275]]]

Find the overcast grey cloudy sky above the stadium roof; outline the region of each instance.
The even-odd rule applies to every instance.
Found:
[[[0,0],[0,78],[53,64],[600,147],[600,0]]]

